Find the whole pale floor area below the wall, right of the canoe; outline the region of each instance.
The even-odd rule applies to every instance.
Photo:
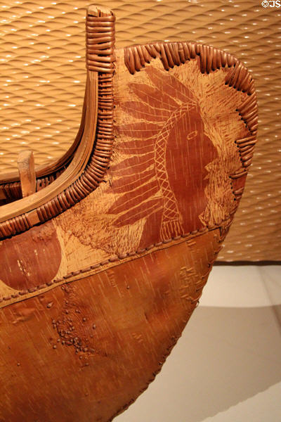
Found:
[[[280,422],[281,266],[214,267],[161,373],[116,422]]]

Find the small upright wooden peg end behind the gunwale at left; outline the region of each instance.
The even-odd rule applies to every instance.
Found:
[[[20,186],[22,198],[32,195],[36,190],[36,177],[34,170],[34,155],[32,151],[21,151],[18,155],[18,172],[20,173]]]

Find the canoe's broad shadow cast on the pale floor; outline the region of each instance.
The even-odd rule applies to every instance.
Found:
[[[279,383],[280,312],[199,307],[155,382],[115,421],[202,422]]]

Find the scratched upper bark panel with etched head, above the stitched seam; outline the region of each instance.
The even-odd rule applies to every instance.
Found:
[[[189,48],[192,54],[197,47]],[[130,73],[124,50],[115,53],[115,142],[105,177],[60,215],[61,196],[40,212],[35,208],[32,219],[36,214],[44,222],[51,212],[58,216],[0,242],[0,306],[75,279],[101,262],[115,265],[120,256],[126,260],[178,236],[217,227],[226,231],[232,222],[256,136],[255,93],[247,70],[237,62],[206,73],[202,63],[209,65],[211,56],[207,60],[202,51],[169,71],[158,57]],[[221,60],[221,53],[214,58]],[[233,57],[224,60],[231,64]],[[79,185],[74,192],[79,196]],[[6,206],[13,203],[2,209]],[[29,222],[25,215],[22,221]],[[26,230],[20,219],[1,227]]]

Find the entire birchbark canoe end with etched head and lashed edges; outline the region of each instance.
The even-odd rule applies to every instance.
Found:
[[[104,38],[94,25],[113,37],[112,15],[99,13],[87,44]],[[87,55],[98,117],[84,175],[39,207],[44,189],[1,207],[2,421],[109,422],[124,411],[181,335],[244,190],[257,108],[242,63],[194,43],[108,50],[98,78],[106,53]]]

